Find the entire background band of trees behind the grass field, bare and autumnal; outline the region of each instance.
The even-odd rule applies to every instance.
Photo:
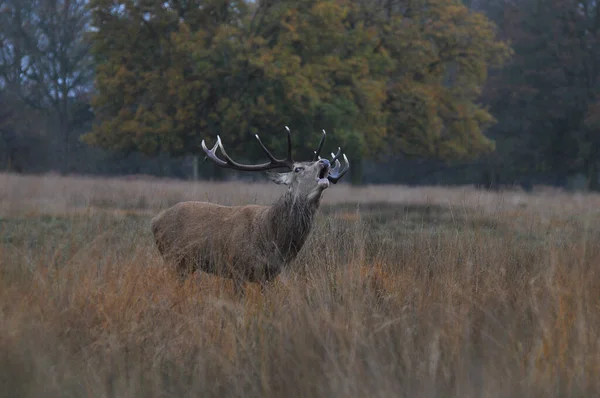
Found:
[[[591,0],[0,0],[0,168],[189,177],[202,139],[256,161],[287,125],[356,183],[598,189],[599,24]]]

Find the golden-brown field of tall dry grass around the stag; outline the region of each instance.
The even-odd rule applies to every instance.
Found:
[[[271,184],[0,174],[6,397],[596,397],[600,196],[339,184],[261,295],[149,223]]]

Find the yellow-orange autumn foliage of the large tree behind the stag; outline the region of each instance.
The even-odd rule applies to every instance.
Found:
[[[220,134],[241,155],[250,133],[277,147],[289,125],[304,153],[324,128],[355,159],[383,149],[469,158],[494,146],[477,99],[509,49],[459,0],[90,5],[89,143],[181,155]]]

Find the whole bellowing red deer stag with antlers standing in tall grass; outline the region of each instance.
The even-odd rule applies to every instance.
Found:
[[[271,206],[222,206],[192,201],[178,203],[158,214],[152,220],[156,245],[165,261],[176,266],[182,280],[199,269],[232,279],[235,293],[243,295],[244,282],[259,283],[263,290],[296,258],[312,228],[323,191],[330,182],[335,184],[346,174],[350,163],[344,154],[342,167],[338,160],[340,148],[337,154],[331,154],[331,161],[321,159],[325,130],[312,161],[295,162],[291,132],[287,126],[286,129],[287,158],[275,158],[256,135],[269,162],[255,165],[231,159],[219,136],[210,150],[202,140],[207,158],[220,167],[289,170],[267,172],[271,180],[288,188]],[[224,160],[217,156],[217,148]]]

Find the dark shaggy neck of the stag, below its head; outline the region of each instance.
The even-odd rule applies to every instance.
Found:
[[[296,257],[312,228],[321,195],[311,199],[288,191],[269,209],[269,237],[286,262]]]

